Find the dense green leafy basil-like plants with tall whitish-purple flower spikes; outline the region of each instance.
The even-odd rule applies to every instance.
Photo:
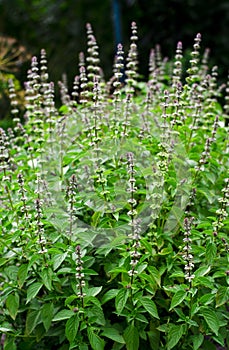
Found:
[[[229,347],[228,90],[197,34],[189,67],[137,28],[103,78],[87,54],[54,102],[46,52],[0,129],[0,332],[4,350]],[[23,94],[22,94],[23,96]],[[23,118],[22,118],[23,113]]]

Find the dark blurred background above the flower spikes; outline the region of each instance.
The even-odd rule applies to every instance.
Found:
[[[71,84],[90,22],[108,79],[117,43],[123,43],[125,51],[129,47],[132,21],[138,25],[143,77],[147,78],[150,48],[160,44],[163,56],[173,58],[179,40],[190,51],[200,32],[202,48],[211,50],[211,65],[218,65],[220,81],[227,81],[229,0],[0,0],[0,74],[13,74],[22,83],[30,57],[45,48],[50,79],[56,82],[66,73]],[[1,84],[0,114],[5,108]]]

